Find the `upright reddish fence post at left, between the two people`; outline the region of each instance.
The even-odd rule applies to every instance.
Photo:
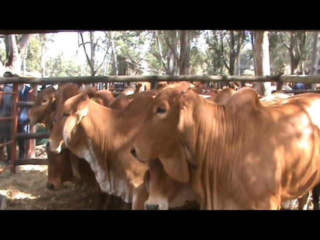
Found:
[[[11,173],[15,173],[15,162],[16,162],[16,126],[17,126],[17,109],[16,103],[18,101],[18,83],[13,83],[13,94],[12,94],[12,121],[11,121],[11,139],[13,140],[11,145]]]

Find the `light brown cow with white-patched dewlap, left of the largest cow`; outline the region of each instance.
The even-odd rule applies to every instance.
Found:
[[[147,165],[136,161],[129,149],[152,100],[153,96],[140,95],[117,111],[84,93],[70,97],[50,133],[50,149],[59,152],[64,144],[89,162],[102,191],[132,202],[132,209],[143,209]]]

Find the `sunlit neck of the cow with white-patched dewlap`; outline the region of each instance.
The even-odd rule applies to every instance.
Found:
[[[125,144],[122,142],[123,134],[119,133],[124,114],[95,102],[91,104],[89,112],[90,109],[94,111],[89,113],[85,124],[82,124],[88,136],[86,141],[90,157],[94,161],[88,162],[102,191],[120,196],[125,202],[131,202],[132,189],[142,183],[143,174],[141,180],[134,179],[136,169],[132,169],[131,165],[139,162],[129,155],[129,148],[126,157],[123,157],[124,153],[120,149],[121,143]],[[100,169],[103,172],[100,172]]]

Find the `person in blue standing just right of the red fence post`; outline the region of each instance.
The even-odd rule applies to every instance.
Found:
[[[14,74],[14,77],[18,77],[18,75]],[[28,101],[29,100],[29,91],[31,90],[30,86],[26,84],[21,84],[19,86],[18,99],[19,101]],[[17,124],[17,132],[28,132],[28,108],[21,107],[18,110],[18,124]],[[25,156],[25,140],[19,139],[17,140],[19,147],[19,158],[23,158]]]

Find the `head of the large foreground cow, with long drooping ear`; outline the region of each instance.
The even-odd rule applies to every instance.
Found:
[[[206,101],[190,90],[163,89],[148,109],[131,148],[131,154],[140,161],[158,157],[164,171],[181,183],[189,181],[189,163],[194,161],[194,101],[188,100],[194,95]]]

